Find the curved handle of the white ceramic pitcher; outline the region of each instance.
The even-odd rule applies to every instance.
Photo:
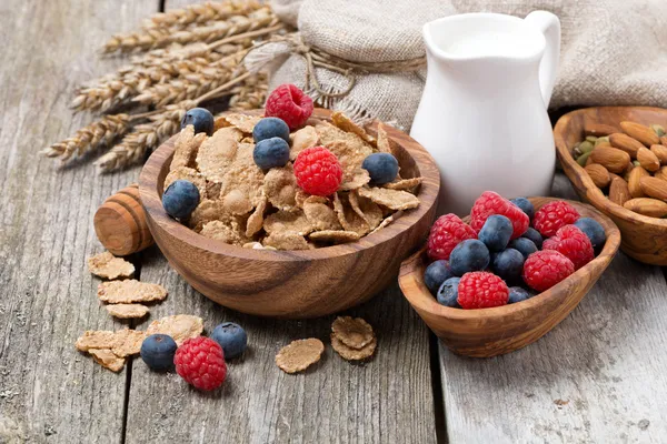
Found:
[[[560,20],[548,11],[530,12],[525,20],[544,33],[547,40],[545,54],[539,64],[539,87],[545,108],[549,108],[560,59]]]

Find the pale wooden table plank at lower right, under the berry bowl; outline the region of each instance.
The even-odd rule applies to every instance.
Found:
[[[574,192],[557,174],[554,195]],[[504,356],[440,346],[450,443],[661,443],[667,436],[667,285],[619,253],[579,306]]]

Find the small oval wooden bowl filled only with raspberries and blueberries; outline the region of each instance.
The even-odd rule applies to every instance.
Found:
[[[438,218],[427,245],[404,261],[399,284],[451,351],[496,356],[563,321],[619,243],[616,225],[589,205],[552,198],[510,202],[487,191],[470,216]]]

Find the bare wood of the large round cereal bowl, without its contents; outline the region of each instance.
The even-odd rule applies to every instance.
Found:
[[[252,111],[249,113],[259,113]],[[317,109],[313,118],[331,112]],[[377,133],[377,122],[368,128]],[[440,176],[432,158],[407,134],[388,127],[404,178],[421,175],[419,206],[357,242],[303,251],[242,249],[208,238],[171,219],[162,208],[162,183],[173,138],[148,160],[139,178],[148,225],[171,265],[195,289],[221,305],[251,314],[316,317],[357,305],[384,289],[400,261],[428,235]],[[312,279],[312,276],[318,276]]]

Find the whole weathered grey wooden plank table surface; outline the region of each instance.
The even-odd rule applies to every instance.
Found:
[[[332,317],[221,309],[153,248],[133,258],[142,281],[170,291],[151,317],[188,313],[209,331],[223,320],[247,329],[250,351],[230,364],[225,389],[198,393],[140,360],[115,374],[79,354],[84,330],[123,326],[98,303],[86,258],[101,250],[96,208],[139,170],[58,169],[37,152],[89,121],[68,103],[74,85],[120,63],[97,57],[104,39],[159,6],[0,3],[0,443],[665,442],[667,284],[660,269],[624,254],[563,324],[516,353],[452,355],[392,284],[350,312],[376,327],[372,362],[351,365],[328,350],[293,376],[276,367],[276,352],[293,339],[326,340]],[[555,194],[573,195],[565,178]]]

